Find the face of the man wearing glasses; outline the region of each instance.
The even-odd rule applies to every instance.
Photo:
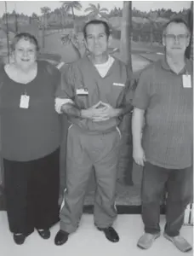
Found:
[[[190,35],[184,23],[170,23],[163,35],[163,45],[171,55],[184,55]]]

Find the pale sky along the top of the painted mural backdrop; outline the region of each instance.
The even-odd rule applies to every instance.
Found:
[[[88,7],[88,3],[100,3],[101,8],[113,9],[115,6],[118,8],[123,7],[123,1],[80,1],[83,6],[82,11],[75,11],[76,15],[84,15],[84,9]],[[24,15],[31,15],[33,12],[40,15],[40,8],[48,6],[51,10],[61,6],[60,1],[7,1],[8,11],[12,12],[14,9],[17,13]],[[150,9],[172,9],[180,11],[180,9],[190,8],[190,1],[133,1],[133,8],[142,11],[149,11]],[[0,16],[5,11],[4,1],[0,1]]]

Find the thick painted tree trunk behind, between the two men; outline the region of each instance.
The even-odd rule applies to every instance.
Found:
[[[132,2],[123,2],[123,19],[122,19],[122,34],[121,34],[121,57],[128,65],[128,76],[132,74],[132,59],[131,59],[131,35],[132,35]],[[122,183],[132,185],[132,131],[131,131],[131,113],[124,116],[120,129],[123,133],[121,141],[121,149],[119,156],[119,172],[118,179]]]

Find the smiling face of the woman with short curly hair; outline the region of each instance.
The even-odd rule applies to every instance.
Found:
[[[37,59],[36,45],[29,40],[21,38],[14,49],[14,62],[23,69],[28,69]]]

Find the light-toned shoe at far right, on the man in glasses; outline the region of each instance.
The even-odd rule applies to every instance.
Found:
[[[163,236],[169,241],[172,241],[174,246],[177,247],[182,253],[187,253],[192,250],[191,244],[182,236],[168,236],[166,233],[163,233]]]

